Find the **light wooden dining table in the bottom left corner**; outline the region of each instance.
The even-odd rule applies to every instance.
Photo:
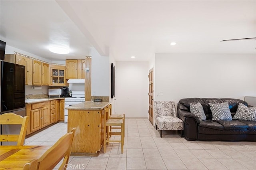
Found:
[[[0,146],[0,170],[23,169],[24,164],[40,158],[51,146]]]

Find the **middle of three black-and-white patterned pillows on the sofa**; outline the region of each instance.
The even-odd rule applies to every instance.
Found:
[[[209,103],[210,109],[212,111],[212,120],[230,120],[232,121],[232,116],[229,110],[228,102],[224,103]]]

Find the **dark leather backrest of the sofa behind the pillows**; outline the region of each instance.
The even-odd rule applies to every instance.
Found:
[[[206,119],[212,120],[212,112],[211,112],[209,103],[224,103],[226,101],[228,102],[229,109],[230,109],[231,113],[236,112],[239,103],[243,103],[244,105],[248,106],[248,104],[245,101],[242,101],[240,99],[231,99],[231,98],[222,98],[222,99],[218,99],[218,98],[186,98],[186,99],[180,99],[179,103],[185,106],[185,107],[183,107],[182,110],[188,111],[188,112],[191,112],[190,111],[190,103],[193,103],[193,104],[196,104],[198,102],[201,103],[201,105],[204,109],[204,113],[206,115]]]

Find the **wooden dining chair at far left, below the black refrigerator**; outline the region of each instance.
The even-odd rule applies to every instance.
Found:
[[[14,113],[4,113],[0,115],[0,125],[21,125],[20,134],[1,134],[1,142],[17,142],[18,146],[24,144],[27,127],[28,116],[20,116]]]

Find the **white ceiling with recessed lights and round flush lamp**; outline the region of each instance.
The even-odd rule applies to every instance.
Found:
[[[80,59],[90,47],[116,61],[148,61],[154,53],[256,54],[256,40],[220,42],[256,37],[253,0],[0,0],[0,15],[1,40],[53,60]],[[51,53],[53,45],[71,53]]]

